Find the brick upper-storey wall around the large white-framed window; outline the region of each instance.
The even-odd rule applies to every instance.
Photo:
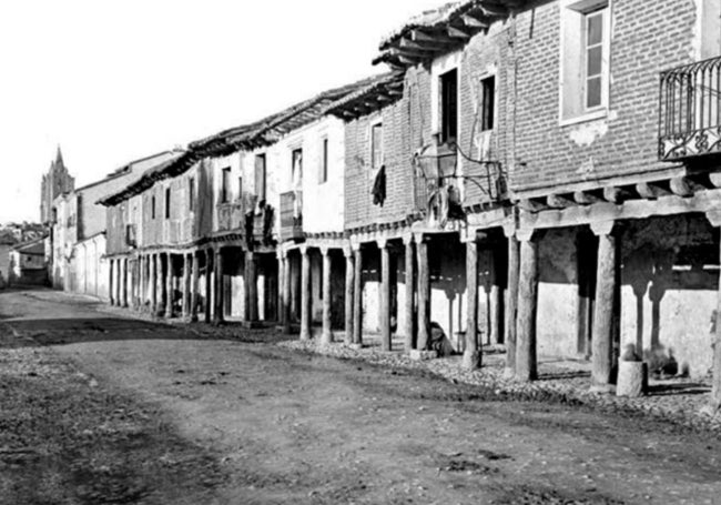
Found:
[[[659,72],[691,61],[694,2],[617,0],[611,16],[608,118],[569,127],[559,125],[559,3],[518,16],[515,190],[668,168],[657,161]],[[596,140],[573,141],[590,128]]]

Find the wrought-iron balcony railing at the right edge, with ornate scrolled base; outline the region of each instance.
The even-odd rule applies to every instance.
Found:
[[[659,159],[721,153],[721,58],[661,72]]]

